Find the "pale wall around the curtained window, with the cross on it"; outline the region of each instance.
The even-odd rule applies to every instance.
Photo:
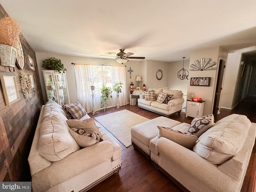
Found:
[[[42,68],[42,61],[51,57],[58,58],[62,61],[64,64],[64,67],[67,69],[67,82],[68,82],[68,94],[70,96],[70,102],[76,102],[77,101],[77,92],[76,92],[76,80],[75,80],[75,74],[74,74],[74,65],[71,63],[90,63],[90,64],[114,64],[118,65],[118,62],[115,60],[109,60],[104,61],[106,59],[102,58],[90,58],[90,57],[80,57],[80,56],[70,56],[70,55],[61,55],[61,54],[50,54],[50,53],[39,53],[36,52],[36,61],[38,64],[38,72],[40,76],[40,82],[42,87],[42,93],[44,97],[44,103],[47,102],[47,96],[46,96],[46,89],[44,85],[44,77],[42,75],[42,71],[44,68]],[[121,65],[121,64],[120,64]],[[126,64],[126,85],[124,85],[123,88],[127,88],[129,90],[130,82],[135,82],[136,75],[140,72],[140,65],[137,61],[129,61]],[[127,72],[131,67],[134,72],[132,72],[132,78],[130,79],[130,73]],[[129,92],[127,92],[127,101],[130,102],[130,96]]]

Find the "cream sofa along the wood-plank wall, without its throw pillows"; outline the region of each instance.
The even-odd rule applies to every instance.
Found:
[[[121,168],[121,147],[98,124],[103,141],[80,148],[66,120],[56,102],[42,106],[28,157],[33,192],[88,190]]]

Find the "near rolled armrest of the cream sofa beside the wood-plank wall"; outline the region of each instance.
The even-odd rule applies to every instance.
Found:
[[[62,160],[52,162],[51,166],[38,172],[32,180],[35,183],[44,183],[46,191],[70,178],[75,177],[92,167],[95,167],[109,160],[113,156],[112,144],[109,141],[102,141],[92,146],[82,148]]]

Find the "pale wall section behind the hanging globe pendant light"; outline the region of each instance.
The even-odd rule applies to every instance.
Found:
[[[169,63],[168,69],[168,88],[172,90],[181,90],[184,95],[187,95],[188,82],[190,80],[190,73],[188,79],[180,80],[177,76],[179,70],[182,69],[183,60]],[[184,60],[184,69],[189,69],[189,60]],[[188,70],[189,72],[189,70]]]

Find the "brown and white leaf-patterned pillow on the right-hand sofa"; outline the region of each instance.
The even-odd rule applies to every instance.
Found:
[[[200,137],[204,132],[214,125],[213,114],[194,118],[188,128],[188,134]]]

